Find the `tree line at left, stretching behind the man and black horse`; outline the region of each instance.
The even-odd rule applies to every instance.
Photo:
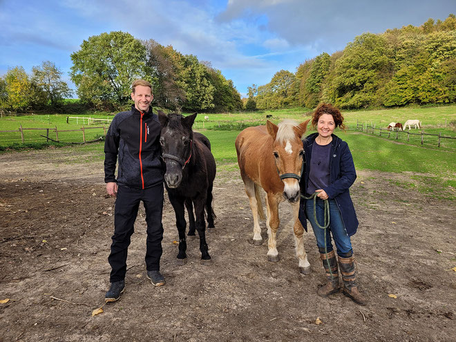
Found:
[[[128,32],[89,37],[70,55],[70,78],[80,102],[99,110],[119,110],[131,103],[131,84],[146,79],[153,85],[153,105],[173,111],[236,111],[240,94],[210,62],[183,55],[153,39],[135,39]],[[61,105],[72,91],[50,61],[29,76],[17,66],[0,77],[0,108],[12,111]]]

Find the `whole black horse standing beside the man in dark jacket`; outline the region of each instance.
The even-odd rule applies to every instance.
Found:
[[[164,175],[165,187],[175,212],[179,232],[178,265],[187,263],[187,222],[184,205],[189,213],[189,235],[194,235],[196,229],[200,236],[201,263],[211,261],[205,236],[205,210],[208,227],[213,228],[215,215],[212,209],[212,188],[216,177],[216,161],[213,159],[207,137],[191,130],[195,118],[196,113],[183,117],[180,114],[166,115],[158,111],[158,119],[162,126],[162,158],[167,164],[167,172]],[[196,220],[193,218],[193,206]],[[195,223],[192,227],[193,220]]]

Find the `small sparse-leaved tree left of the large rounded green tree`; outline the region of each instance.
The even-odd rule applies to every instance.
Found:
[[[32,68],[32,84],[41,88],[45,101],[51,106],[61,102],[72,94],[68,84],[61,80],[62,72],[51,61],[43,61],[41,66]]]

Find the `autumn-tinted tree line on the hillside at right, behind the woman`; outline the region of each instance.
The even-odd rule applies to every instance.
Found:
[[[378,35],[364,33],[344,50],[278,71],[271,82],[249,87],[251,109],[330,102],[339,108],[456,102],[456,17],[428,19]]]

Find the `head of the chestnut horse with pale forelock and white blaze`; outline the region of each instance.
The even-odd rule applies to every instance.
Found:
[[[274,140],[272,149],[278,175],[284,184],[283,197],[289,202],[297,202],[300,198],[299,181],[304,163],[301,137],[309,121],[296,124],[293,120],[283,120],[278,126],[269,120],[266,123],[267,132]]]

